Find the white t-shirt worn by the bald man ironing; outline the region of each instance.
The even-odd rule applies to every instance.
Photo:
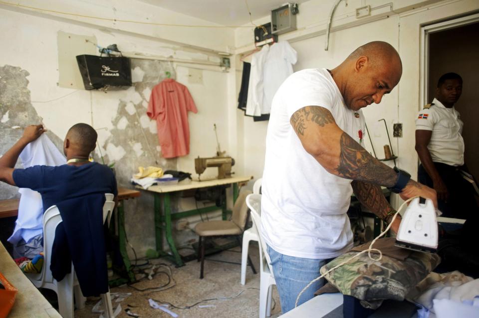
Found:
[[[344,105],[326,69],[302,70],[288,77],[273,98],[266,135],[262,234],[279,253],[326,259],[353,246],[346,214],[351,180],[330,174],[304,150],[289,122],[291,115],[304,106],[327,108],[336,124],[363,144],[362,112]]]

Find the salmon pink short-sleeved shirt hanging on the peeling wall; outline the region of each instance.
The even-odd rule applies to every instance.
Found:
[[[197,113],[198,109],[186,86],[166,79],[153,88],[146,113],[156,120],[163,158],[190,153],[188,111]]]

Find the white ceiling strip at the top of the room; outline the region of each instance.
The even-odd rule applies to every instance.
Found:
[[[221,25],[243,25],[249,23],[249,14],[244,0],[140,0],[171,11],[194,16]],[[269,15],[287,0],[248,0],[251,18]],[[302,3],[307,0],[295,0]],[[301,6],[299,6],[301,12]],[[180,22],[179,22],[180,23]]]

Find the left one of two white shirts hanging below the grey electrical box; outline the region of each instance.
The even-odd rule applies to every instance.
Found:
[[[264,45],[261,51],[251,57],[249,72],[248,97],[246,100],[246,115],[260,116],[264,99],[263,67],[268,57],[269,45]]]

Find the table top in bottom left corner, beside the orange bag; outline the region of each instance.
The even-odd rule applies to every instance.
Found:
[[[8,318],[61,318],[60,314],[23,274],[1,242],[0,272],[18,290]]]

